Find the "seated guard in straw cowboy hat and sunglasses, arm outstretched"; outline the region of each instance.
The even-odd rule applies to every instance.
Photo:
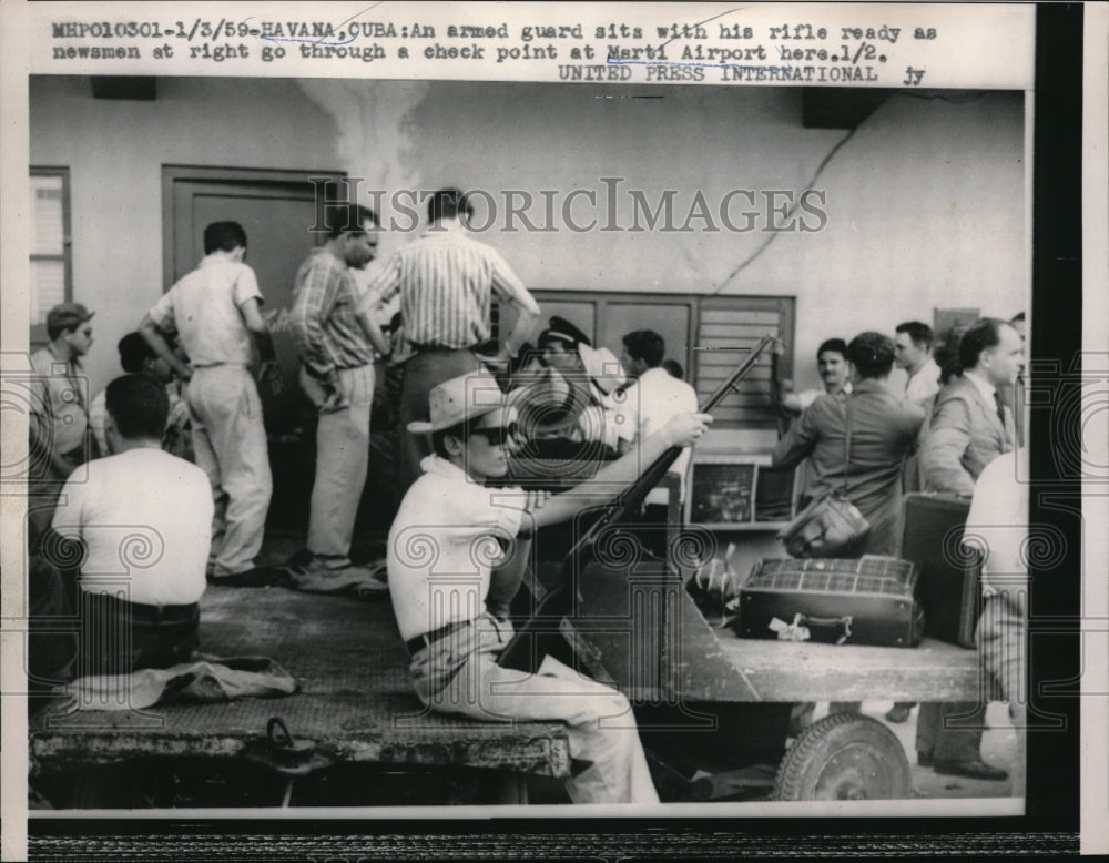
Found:
[[[409,430],[430,433],[435,454],[421,463],[424,475],[405,495],[388,544],[393,609],[417,694],[431,710],[494,722],[562,720],[570,757],[588,762],[567,780],[573,802],[657,803],[628,700],[550,656],[535,674],[498,666],[512,625],[485,611],[485,601],[490,570],[506,559],[500,541],[511,548],[517,537],[624,490],[641,464],[691,444],[711,417],[675,416],[637,451],[548,499],[484,485],[508,471],[513,430],[513,409],[491,375],[447,380],[428,400],[430,419]]]

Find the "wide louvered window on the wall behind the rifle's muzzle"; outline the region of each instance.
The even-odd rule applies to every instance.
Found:
[[[695,294],[627,294],[532,291],[542,308],[540,327],[560,315],[588,334],[594,345],[619,356],[622,337],[633,329],[653,329],[667,342],[686,380],[704,402],[767,333],[785,343],[777,357],[779,375],[793,376],[795,299],[792,296],[699,296]],[[500,311],[501,327],[510,328],[511,309]],[[507,332],[507,331],[506,331]],[[538,333],[536,334],[538,335]],[[771,405],[770,352],[716,408],[716,428],[776,428]]]

